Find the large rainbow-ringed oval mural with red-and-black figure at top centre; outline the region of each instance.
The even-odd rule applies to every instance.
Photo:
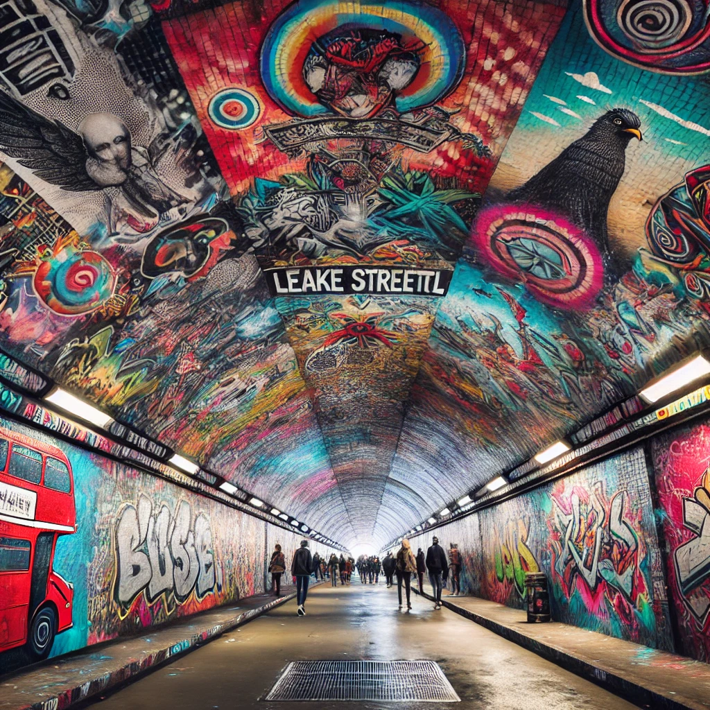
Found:
[[[285,111],[370,118],[442,99],[461,80],[465,47],[445,13],[422,4],[300,2],[276,18],[261,77]]]

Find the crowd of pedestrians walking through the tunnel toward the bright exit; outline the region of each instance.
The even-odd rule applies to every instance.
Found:
[[[459,548],[452,542],[449,549],[449,559],[443,548],[439,546],[439,538],[432,539],[432,545],[425,555],[420,547],[415,556],[409,540],[402,540],[402,547],[393,556],[388,552],[385,559],[380,562],[379,557],[373,555],[368,557],[361,555],[357,562],[352,557],[335,553],[325,560],[318,555],[311,555],[308,549],[308,540],[301,540],[301,545],[293,555],[291,561],[291,574],[296,584],[296,601],[298,604],[297,614],[305,616],[305,602],[308,594],[308,584],[312,575],[316,581],[319,578],[329,577],[332,586],[340,584],[346,586],[350,584],[353,569],[357,569],[362,584],[378,584],[380,573],[383,572],[386,579],[387,589],[394,584],[397,578],[397,594],[399,598],[399,608],[403,606],[402,587],[405,588],[405,598],[407,608],[412,608],[411,590],[412,575],[417,575],[420,594],[424,594],[424,575],[428,572],[429,581],[432,585],[434,596],[434,608],[440,609],[442,606],[442,587],[447,577],[451,577],[452,594],[461,594],[461,553]],[[281,596],[281,576],[286,571],[286,560],[280,545],[275,545],[268,571],[271,573],[271,588],[276,596]]]

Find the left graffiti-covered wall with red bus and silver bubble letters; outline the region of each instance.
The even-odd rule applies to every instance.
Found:
[[[298,540],[0,419],[0,666],[263,593],[267,543],[280,542],[290,562]],[[43,619],[58,631],[53,640],[41,633]]]

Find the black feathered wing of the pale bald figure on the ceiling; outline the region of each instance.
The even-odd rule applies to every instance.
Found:
[[[0,150],[62,190],[101,190],[86,169],[81,136],[0,91]]]

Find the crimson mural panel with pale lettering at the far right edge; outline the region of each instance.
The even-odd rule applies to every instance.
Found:
[[[669,596],[679,652],[710,661],[710,424],[654,440],[656,486],[666,538]]]

